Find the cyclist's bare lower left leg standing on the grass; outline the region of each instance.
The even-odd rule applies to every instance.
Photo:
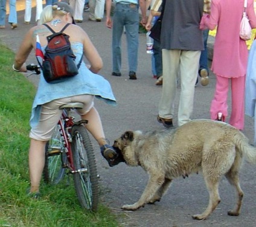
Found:
[[[46,141],[31,139],[28,164],[30,168],[30,193],[38,192],[43,167],[45,165],[45,144]]]

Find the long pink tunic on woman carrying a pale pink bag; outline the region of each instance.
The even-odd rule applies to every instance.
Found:
[[[204,14],[200,23],[200,28],[210,30],[217,26],[211,69],[222,77],[246,74],[248,49],[245,40],[239,36],[243,5],[244,0],[212,0],[211,14]],[[256,28],[254,0],[248,0],[246,12],[251,27]]]

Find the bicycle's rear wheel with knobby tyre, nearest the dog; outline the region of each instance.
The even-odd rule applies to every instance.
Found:
[[[97,211],[98,176],[91,139],[82,125],[73,126],[71,135],[72,156],[77,170],[73,174],[73,179],[78,200],[83,208]]]

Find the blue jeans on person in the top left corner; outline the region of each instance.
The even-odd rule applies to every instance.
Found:
[[[17,24],[16,0],[9,1],[10,14],[8,23]],[[6,0],[0,0],[0,25],[5,25],[6,17]]]

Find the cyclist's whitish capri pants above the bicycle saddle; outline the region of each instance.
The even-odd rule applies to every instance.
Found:
[[[39,123],[36,127],[30,130],[30,138],[38,141],[48,141],[62,115],[62,110],[60,110],[59,107],[63,104],[72,102],[83,103],[83,109],[77,109],[77,112],[79,115],[85,115],[94,106],[94,95],[77,95],[59,98],[57,100],[50,101],[50,103],[43,104]]]

